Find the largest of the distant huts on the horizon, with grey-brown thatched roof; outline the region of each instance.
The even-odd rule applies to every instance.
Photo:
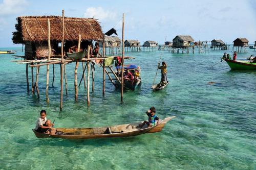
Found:
[[[194,42],[194,39],[190,35],[177,35],[173,39],[173,47],[188,47],[191,42]]]

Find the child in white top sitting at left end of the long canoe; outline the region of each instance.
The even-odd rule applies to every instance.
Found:
[[[40,111],[40,117],[38,117],[37,122],[35,124],[35,131],[40,133],[49,132],[49,129],[53,129],[52,126],[54,124],[51,123],[50,120],[46,118],[46,111]]]

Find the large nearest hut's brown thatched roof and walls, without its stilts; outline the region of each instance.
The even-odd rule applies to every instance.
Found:
[[[25,55],[28,58],[48,56],[48,19],[50,19],[51,46],[54,53],[59,51],[58,43],[62,40],[61,16],[20,16],[17,17],[16,32],[13,32],[13,43],[25,44]],[[81,48],[87,42],[103,38],[99,22],[91,18],[65,17],[64,40],[68,45],[77,44],[81,35]],[[86,42],[87,41],[87,42]],[[89,43],[89,42],[88,42]],[[57,54],[52,55],[57,55]]]

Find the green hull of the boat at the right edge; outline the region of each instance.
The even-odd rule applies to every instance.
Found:
[[[247,61],[225,60],[229,67],[233,70],[256,70],[256,63]]]

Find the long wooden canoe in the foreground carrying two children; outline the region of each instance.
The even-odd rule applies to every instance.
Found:
[[[51,134],[39,133],[35,129],[32,129],[38,138],[66,138],[66,139],[92,139],[92,138],[109,138],[109,137],[128,137],[136,136],[144,133],[155,133],[160,132],[164,125],[176,116],[166,117],[164,120],[159,120],[160,123],[153,127],[147,127],[146,125],[139,128],[138,123],[116,125],[109,127],[99,127],[99,128],[56,128],[53,129]]]

